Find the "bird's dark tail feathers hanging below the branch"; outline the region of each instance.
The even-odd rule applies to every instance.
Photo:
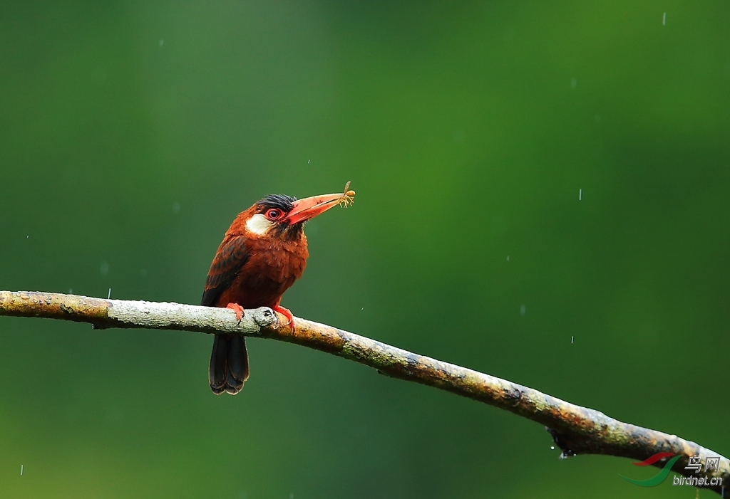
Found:
[[[248,352],[245,337],[237,334],[216,334],[210,354],[208,381],[213,393],[236,395],[248,379]]]

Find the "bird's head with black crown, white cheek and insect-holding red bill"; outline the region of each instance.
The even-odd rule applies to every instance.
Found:
[[[301,200],[284,194],[270,194],[256,201],[245,212],[246,231],[255,237],[296,239],[301,236],[305,221],[334,206],[353,203],[355,192],[347,190],[349,185],[347,182],[345,192],[342,193],[305,197]]]

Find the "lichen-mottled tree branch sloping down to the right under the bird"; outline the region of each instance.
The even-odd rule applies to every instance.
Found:
[[[0,315],[87,322],[96,329],[145,328],[243,334],[278,339],[322,350],[373,367],[382,374],[415,381],[526,417],[545,425],[563,451],[561,456],[605,454],[642,461],[657,452],[681,455],[672,466],[677,474],[721,478],[727,486],[730,461],[694,442],[661,431],[622,423],[602,412],[570,404],[533,388],[410,353],[385,343],[324,324],[296,318],[292,329],[269,308],[246,310],[241,321],[233,310],[177,303],[134,302],[72,294],[0,291]],[[685,470],[688,457],[720,457],[717,471]],[[655,463],[663,468],[666,458]],[[724,487],[708,486],[724,495]],[[729,486],[730,490],[730,486]]]

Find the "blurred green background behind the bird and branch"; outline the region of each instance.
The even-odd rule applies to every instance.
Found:
[[[0,109],[0,288],[197,304],[239,211],[351,180],[296,315],[730,454],[727,1],[5,0]],[[0,495],[695,495],[295,345],[216,397],[211,343],[0,318]]]

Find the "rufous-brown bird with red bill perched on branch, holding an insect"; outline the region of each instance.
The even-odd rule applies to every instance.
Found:
[[[280,302],[307,264],[304,222],[333,206],[350,205],[355,192],[349,186],[339,194],[301,200],[272,194],[239,213],[210,264],[201,304],[231,308],[239,320],[245,308],[270,307],[293,327],[291,312]],[[248,374],[245,337],[216,334],[208,370],[213,393],[239,393]]]

